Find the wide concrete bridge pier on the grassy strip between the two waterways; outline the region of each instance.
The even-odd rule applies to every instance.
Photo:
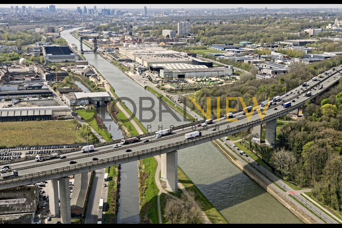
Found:
[[[161,179],[166,181],[168,190],[178,190],[178,156],[177,151],[163,153],[161,155]]]

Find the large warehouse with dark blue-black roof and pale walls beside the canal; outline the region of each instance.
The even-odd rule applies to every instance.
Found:
[[[43,46],[43,56],[46,62],[76,62],[78,55],[69,46],[49,45]]]

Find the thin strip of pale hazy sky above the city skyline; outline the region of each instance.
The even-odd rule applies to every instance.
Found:
[[[10,7],[15,4],[0,4],[0,7]],[[20,8],[24,4],[17,4]],[[49,6],[50,4],[25,4],[26,6],[35,6],[38,8]],[[93,8],[96,5],[97,8],[122,8],[122,9],[141,9],[144,6],[148,8],[164,8],[164,9],[180,9],[180,8],[207,8],[207,9],[231,9],[237,7],[244,8],[342,8],[342,4],[54,4],[56,8],[77,8],[77,6],[87,6],[87,8]]]

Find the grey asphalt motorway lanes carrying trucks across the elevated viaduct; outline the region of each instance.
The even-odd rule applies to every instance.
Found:
[[[341,66],[339,66],[337,68],[337,71],[340,71],[341,69],[342,69]],[[291,89],[290,91],[287,91],[288,96],[282,95],[283,99],[285,99],[285,98],[287,100],[294,99],[296,101],[295,103],[292,103],[291,107],[286,109],[287,110],[286,112],[290,112],[291,108],[293,110],[294,109],[293,105],[298,104],[300,102],[304,103],[306,100],[313,98],[314,95],[323,91],[327,87],[331,86],[334,83],[337,83],[338,80],[341,78],[341,76],[336,73],[337,71],[333,71],[334,76],[336,77],[335,80],[333,79],[332,75],[329,75],[329,76],[325,76],[325,78],[322,79],[321,81],[309,82],[310,86],[313,86],[314,84],[318,84],[318,83],[323,84],[323,86],[324,86],[322,90],[318,90],[318,88],[316,88],[316,90],[313,90],[313,87],[308,87],[307,90],[312,89],[312,91],[311,91],[312,96],[311,97],[304,97],[302,94],[300,94],[300,95],[290,94],[290,92],[295,92],[295,89],[299,89],[298,86],[296,88]],[[331,70],[328,70],[327,72],[330,73]],[[296,98],[297,96],[298,96],[298,98]],[[278,110],[274,110],[274,107],[277,107]],[[296,108],[298,108],[298,107],[296,107]],[[277,105],[271,106],[267,109],[266,114],[265,114],[265,118],[267,118],[267,117],[271,118],[271,116],[272,116],[272,118],[276,118],[276,117],[278,117],[276,115],[281,115],[281,112],[283,110],[284,110],[284,108],[282,108],[282,102],[277,102]],[[235,122],[226,122],[222,118],[219,121],[214,120],[214,122],[212,124],[208,125],[208,127],[205,127],[205,128],[196,127],[195,125],[192,125],[192,126],[188,126],[188,127],[182,128],[182,129],[177,129],[177,130],[174,130],[173,133],[169,136],[162,136],[159,139],[155,139],[153,137],[152,143],[143,143],[143,140],[150,139],[150,136],[145,136],[145,137],[141,138],[142,141],[139,143],[122,145],[121,147],[116,148],[116,149],[112,148],[113,144],[107,145],[107,146],[97,147],[97,148],[95,148],[95,151],[89,153],[89,156],[87,153],[82,154],[80,151],[74,151],[74,152],[70,152],[70,153],[65,154],[67,156],[66,159],[54,159],[54,160],[47,160],[44,162],[36,162],[35,160],[26,160],[26,161],[22,161],[22,162],[13,163],[13,164],[11,164],[11,167],[12,167],[12,169],[17,170],[19,173],[19,177],[21,177],[21,176],[24,176],[27,174],[38,173],[38,172],[43,172],[43,171],[50,171],[50,170],[54,170],[54,169],[58,169],[58,168],[74,166],[74,165],[69,164],[69,162],[71,160],[77,161],[77,164],[82,164],[82,163],[86,163],[86,162],[92,162],[92,158],[94,158],[94,157],[98,158],[100,161],[101,159],[113,158],[113,157],[117,157],[120,155],[127,155],[127,154],[133,155],[134,152],[137,152],[137,151],[161,147],[161,146],[165,146],[165,145],[172,144],[172,143],[184,143],[185,144],[186,140],[184,138],[184,134],[188,133],[188,132],[193,132],[196,130],[201,131],[202,137],[203,137],[203,136],[208,136],[211,133],[222,133],[222,134],[224,134],[226,132],[227,126],[229,128],[238,127],[238,129],[240,129],[240,130],[245,130],[245,129],[250,128],[252,126],[252,124],[249,123],[249,121],[247,120],[246,116],[242,115],[242,112],[238,113],[238,115],[236,113],[234,114],[234,118],[236,118],[237,116],[239,117],[239,120],[235,121]],[[253,114],[250,121],[255,121],[254,125],[260,124],[260,118],[259,118],[259,115],[257,112],[255,112]],[[264,122],[267,122],[267,121],[264,121]],[[242,127],[241,125],[244,125],[245,127]],[[216,128],[216,131],[211,130],[213,127]],[[231,133],[235,133],[235,132],[232,131]],[[227,134],[231,134],[231,133],[229,132]],[[190,140],[190,141],[192,141],[192,140]],[[207,141],[205,141],[205,142],[207,142]],[[203,142],[198,141],[198,143],[204,143],[204,141]],[[188,146],[191,146],[191,145],[188,145]],[[187,146],[185,146],[185,147],[187,147]],[[130,148],[132,150],[132,152],[129,152],[129,153],[125,152],[125,150],[127,148]],[[77,165],[77,164],[75,164],[75,165]],[[46,177],[46,178],[48,178],[48,177]],[[15,178],[13,178],[13,179],[15,179]],[[0,180],[0,184],[1,183],[3,183],[3,180]],[[0,186],[0,188],[1,188],[1,186]]]

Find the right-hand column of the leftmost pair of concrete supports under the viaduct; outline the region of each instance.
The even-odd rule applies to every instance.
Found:
[[[63,224],[71,224],[69,177],[61,177],[59,178],[59,182],[61,201],[61,222]]]

